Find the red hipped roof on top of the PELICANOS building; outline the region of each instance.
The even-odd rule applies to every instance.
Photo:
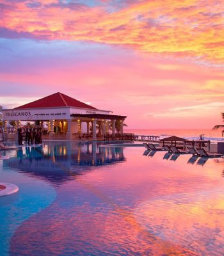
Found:
[[[63,93],[57,92],[39,100],[35,100],[28,104],[19,106],[15,109],[20,108],[52,108],[52,107],[75,107],[75,108],[88,108],[97,109],[90,105],[87,105],[79,100],[73,99]]]

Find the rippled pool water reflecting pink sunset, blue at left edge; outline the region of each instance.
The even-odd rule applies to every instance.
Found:
[[[223,159],[101,146],[0,152],[2,256],[224,255]]]

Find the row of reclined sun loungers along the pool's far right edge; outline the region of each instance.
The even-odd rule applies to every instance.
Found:
[[[172,154],[193,154],[194,156],[203,156],[203,157],[223,157],[223,154],[216,154],[216,153],[209,153],[204,150],[204,148],[188,148],[187,150],[185,149],[178,149],[175,146],[164,146],[164,147],[156,147],[152,143],[143,143],[147,150],[144,152],[144,156],[147,156],[148,153],[152,151],[168,151]]]

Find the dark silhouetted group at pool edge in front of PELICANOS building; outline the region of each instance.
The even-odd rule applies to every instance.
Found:
[[[22,145],[23,137],[25,137],[25,144],[41,144],[42,143],[42,129],[41,128],[21,128],[17,129],[18,132],[18,143]]]

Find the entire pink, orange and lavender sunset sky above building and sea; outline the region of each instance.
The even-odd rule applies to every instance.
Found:
[[[0,105],[61,92],[129,129],[223,124],[218,0],[0,0]]]

